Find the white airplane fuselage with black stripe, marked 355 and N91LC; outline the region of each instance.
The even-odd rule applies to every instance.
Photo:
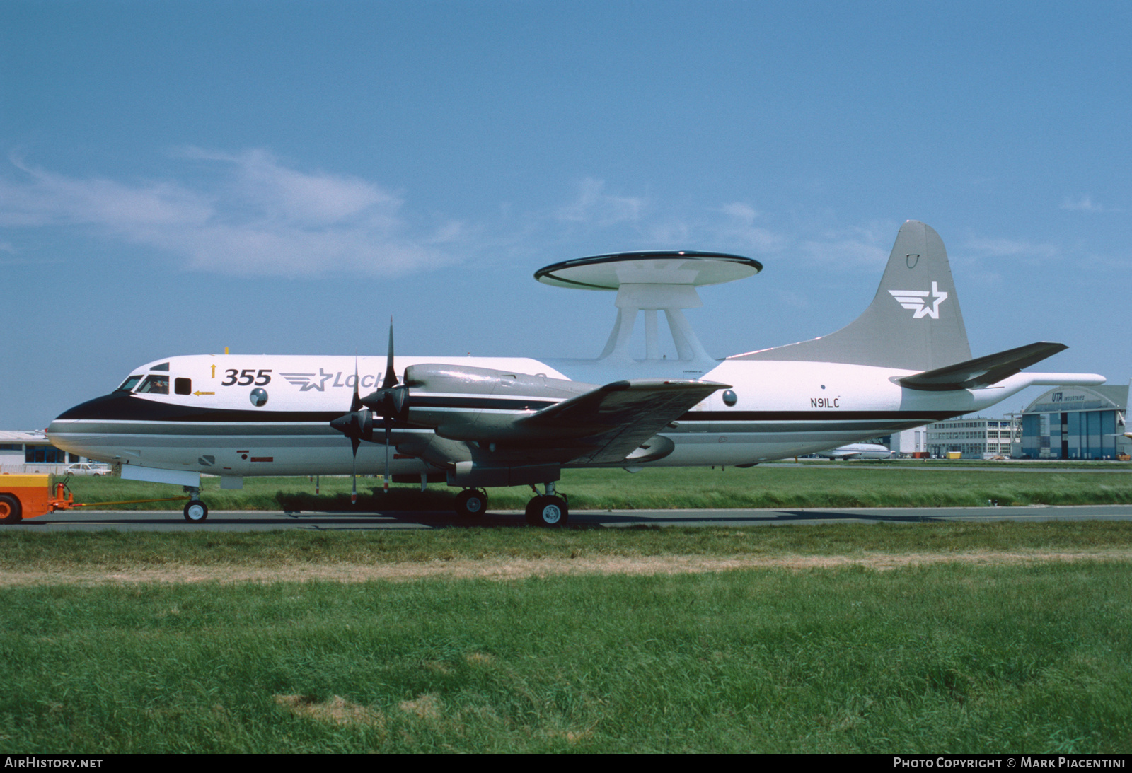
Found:
[[[915,371],[842,363],[722,360],[698,376],[686,372],[688,363],[679,360],[618,367],[528,358],[397,359],[398,370],[424,363],[551,379],[600,377],[598,383],[637,377],[646,368],[654,377],[667,371],[674,379],[692,376],[730,385],[660,433],[674,445],[666,456],[618,466],[737,465],[808,454],[978,411],[1030,381],[1020,375],[992,388],[919,392],[894,383]],[[153,370],[155,366],[168,370]],[[329,422],[350,407],[354,367],[353,357],[170,358],[135,369],[132,375],[140,379],[134,392],[117,390],[67,411],[49,433],[60,448],[127,465],[220,475],[346,474],[352,470],[350,441]],[[381,384],[384,368],[385,358],[357,358],[362,394]],[[137,392],[151,378],[149,390]],[[524,415],[555,402],[522,394],[414,393],[409,421],[396,430],[393,444],[431,433],[429,426],[445,412],[465,419]],[[379,472],[384,464],[384,445],[361,444],[359,472]],[[417,457],[398,454],[392,462],[394,474],[429,470],[436,467]]]

